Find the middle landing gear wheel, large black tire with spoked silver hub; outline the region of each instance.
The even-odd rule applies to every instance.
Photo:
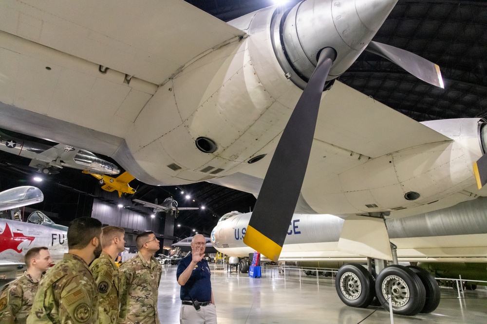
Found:
[[[375,292],[386,310],[389,310],[391,302],[393,313],[399,315],[416,315],[426,301],[426,290],[421,279],[411,269],[399,265],[391,265],[379,273]],[[391,301],[388,295],[392,296]]]

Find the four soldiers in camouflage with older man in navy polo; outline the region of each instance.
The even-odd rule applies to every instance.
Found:
[[[25,273],[1,292],[0,323],[160,324],[162,267],[154,257],[159,240],[153,232],[137,235],[137,255],[118,268],[115,259],[124,250],[124,236],[121,227],[76,219],[68,229],[68,253],[44,276],[51,264],[49,249],[31,248]],[[183,324],[217,323],[205,246],[205,238],[195,235],[191,254],[178,264]]]

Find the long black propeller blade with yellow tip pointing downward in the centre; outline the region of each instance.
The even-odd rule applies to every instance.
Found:
[[[330,48],[321,51],[318,64],[282,132],[245,232],[244,243],[275,262],[296,209],[321,94],[335,55]],[[278,218],[271,220],[270,215]]]

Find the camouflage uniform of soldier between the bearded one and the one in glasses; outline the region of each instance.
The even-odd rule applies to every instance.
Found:
[[[90,266],[100,296],[98,319],[100,323],[117,323],[120,309],[118,267],[112,257],[105,252]]]

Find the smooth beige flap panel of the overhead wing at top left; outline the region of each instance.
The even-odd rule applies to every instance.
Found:
[[[156,85],[245,34],[183,0],[5,0],[0,30]]]

